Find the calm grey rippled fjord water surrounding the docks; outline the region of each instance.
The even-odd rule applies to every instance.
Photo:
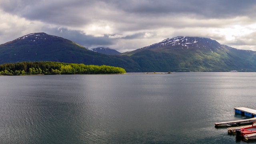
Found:
[[[1,144],[244,143],[256,73],[0,76]]]

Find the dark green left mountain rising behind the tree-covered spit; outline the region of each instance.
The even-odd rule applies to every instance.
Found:
[[[140,68],[127,56],[108,56],[88,50],[70,40],[33,33],[0,45],[0,64],[23,61],[54,61],[94,65],[118,66],[131,70]]]

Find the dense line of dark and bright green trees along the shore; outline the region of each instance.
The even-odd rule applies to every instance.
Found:
[[[123,68],[63,62],[17,62],[0,65],[0,75],[30,74],[122,74]]]

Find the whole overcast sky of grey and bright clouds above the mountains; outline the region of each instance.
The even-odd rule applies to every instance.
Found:
[[[126,52],[174,36],[256,51],[256,0],[1,0],[0,44],[46,32]]]

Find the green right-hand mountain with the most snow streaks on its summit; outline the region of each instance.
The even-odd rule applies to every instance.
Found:
[[[122,55],[132,58],[146,72],[256,71],[256,52],[238,50],[210,38],[167,38]]]

